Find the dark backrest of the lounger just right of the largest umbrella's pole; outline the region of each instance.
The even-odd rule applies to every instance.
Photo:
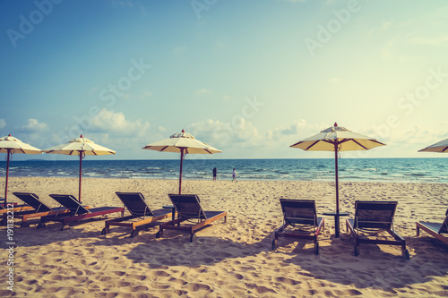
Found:
[[[360,229],[391,229],[396,201],[355,201],[355,227]]]

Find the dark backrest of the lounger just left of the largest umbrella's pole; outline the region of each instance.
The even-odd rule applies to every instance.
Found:
[[[317,226],[317,212],[314,200],[280,199],[281,211],[285,222]]]

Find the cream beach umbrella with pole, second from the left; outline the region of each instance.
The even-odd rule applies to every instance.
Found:
[[[57,145],[43,150],[45,153],[74,155],[80,157],[80,190],[79,200],[81,202],[81,181],[82,181],[82,158],[86,155],[108,155],[116,154],[116,151],[106,147],[95,144],[92,140],[84,138],[82,135],[79,138],[68,141],[65,144]]]

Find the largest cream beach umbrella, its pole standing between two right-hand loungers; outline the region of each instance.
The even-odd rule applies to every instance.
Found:
[[[334,172],[336,175],[336,213],[332,215],[335,219],[336,237],[339,237],[340,234],[338,152],[368,150],[383,145],[385,144],[383,144],[381,141],[375,140],[357,132],[351,132],[345,127],[338,126],[338,123],[334,123],[334,126],[329,127],[310,138],[300,140],[297,143],[289,146],[292,148],[304,149],[306,151],[334,151]]]

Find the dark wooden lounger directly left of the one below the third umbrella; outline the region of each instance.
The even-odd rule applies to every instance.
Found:
[[[108,234],[110,226],[130,226],[132,229],[131,238],[134,238],[142,229],[172,215],[171,209],[151,211],[140,192],[116,192],[116,195],[125,204],[125,208],[131,215],[107,220],[101,234]],[[133,221],[135,218],[139,218],[139,220]]]

